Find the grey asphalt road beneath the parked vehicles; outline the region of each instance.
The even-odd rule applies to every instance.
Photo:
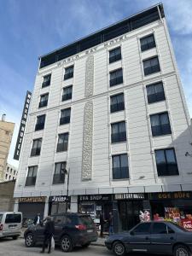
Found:
[[[47,255],[47,253],[41,254],[41,247],[26,248],[24,239],[19,238],[13,240],[12,238],[0,240],[0,256],[35,256],[35,255]],[[88,248],[76,247],[72,253],[63,253],[60,248],[50,254],[53,256],[113,256],[112,252],[109,252],[106,247],[90,246]],[[146,254],[127,254],[128,256],[146,256]],[[152,255],[151,255],[152,256]],[[154,256],[154,255],[153,255]]]

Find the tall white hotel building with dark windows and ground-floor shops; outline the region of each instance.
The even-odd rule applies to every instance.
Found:
[[[161,4],[41,56],[15,210],[113,211],[115,230],[192,214],[189,125]]]

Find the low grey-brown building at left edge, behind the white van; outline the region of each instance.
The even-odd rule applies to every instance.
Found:
[[[0,183],[0,212],[13,212],[15,180]]]

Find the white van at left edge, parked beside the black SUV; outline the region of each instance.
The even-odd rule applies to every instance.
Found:
[[[0,238],[13,237],[21,234],[22,212],[0,212]]]

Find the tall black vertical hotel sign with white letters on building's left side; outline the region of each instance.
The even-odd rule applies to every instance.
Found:
[[[26,129],[26,119],[27,119],[27,115],[28,115],[28,111],[29,111],[29,104],[31,101],[31,97],[32,97],[32,93],[30,91],[26,91],[26,101],[25,101],[25,105],[23,108],[23,113],[22,113],[22,117],[20,120],[20,131],[17,137],[17,143],[16,143],[16,147],[15,147],[15,154],[14,154],[14,159],[15,160],[19,160],[20,159],[20,149],[22,146],[22,142],[23,142],[23,137],[24,137],[24,132]]]

